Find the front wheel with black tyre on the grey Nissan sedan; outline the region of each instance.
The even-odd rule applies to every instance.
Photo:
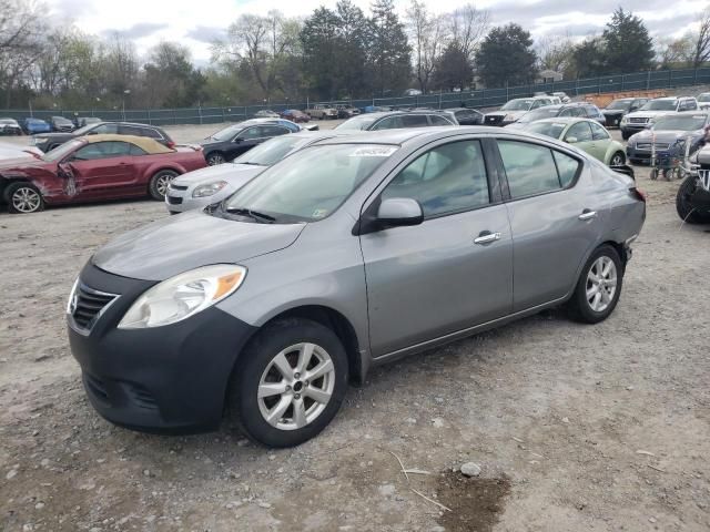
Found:
[[[347,355],[327,327],[284,319],[244,349],[230,386],[229,410],[243,432],[266,447],[293,447],[335,417],[347,388]]]

